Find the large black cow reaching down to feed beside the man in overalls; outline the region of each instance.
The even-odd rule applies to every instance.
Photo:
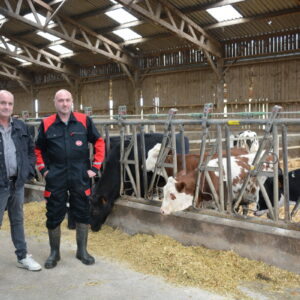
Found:
[[[161,143],[163,139],[163,134],[160,133],[148,133],[145,134],[145,153],[147,158],[147,153],[152,149],[157,143]],[[181,152],[180,147],[180,135],[176,136],[177,151]],[[141,151],[141,141],[140,135],[137,136],[138,142],[138,154],[139,154],[139,167],[140,176],[142,176],[142,151]],[[185,149],[188,149],[188,140],[185,138]],[[129,141],[125,141],[125,147],[128,146]],[[133,150],[129,154],[129,160],[133,160],[134,154]],[[134,166],[130,166],[133,176],[135,176]],[[148,176],[148,182],[152,174]],[[93,231],[98,231],[105,222],[109,213],[111,212],[116,199],[120,196],[120,143],[111,148],[108,156],[105,160],[105,169],[97,182],[92,195],[91,201],[91,229]],[[130,189],[133,191],[131,183],[125,182],[124,189],[127,193],[130,193]],[[144,186],[141,180],[141,194],[144,194]]]

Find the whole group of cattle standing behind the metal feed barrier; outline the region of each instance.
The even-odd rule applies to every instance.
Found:
[[[149,133],[145,134],[145,153],[146,153],[146,164],[143,166],[142,159],[142,149],[141,149],[141,137],[137,136],[138,144],[138,162],[140,174],[143,174],[143,168],[147,170],[148,182],[153,175],[155,165],[157,164],[157,158],[159,155],[161,142],[163,139],[162,134]],[[179,141],[180,137],[176,139]],[[237,143],[235,147],[231,149],[230,152],[230,163],[231,163],[231,175],[232,175],[232,194],[233,199],[239,195],[240,190],[243,186],[245,178],[249,170],[251,169],[253,159],[258,150],[258,139],[255,132],[244,131],[239,134],[236,138]],[[111,140],[112,142],[112,140]],[[120,138],[114,138],[111,148],[107,153],[105,168],[100,176],[100,179],[95,184],[93,189],[93,195],[91,198],[91,229],[93,231],[98,231],[105,222],[107,216],[111,212],[114,202],[120,196],[120,186],[121,186],[121,168],[120,168]],[[125,148],[128,146],[129,140],[125,139]],[[181,153],[181,144],[176,142],[177,153]],[[213,200],[213,192],[211,190],[211,185],[208,184],[206,176],[204,174],[200,175],[200,188],[198,193],[198,198],[195,199],[193,203],[193,198],[196,189],[196,179],[197,179],[197,167],[200,159],[200,155],[188,154],[189,144],[188,140],[185,138],[185,161],[186,169],[183,170],[182,164],[182,154],[177,154],[177,174],[173,174],[172,168],[166,168],[163,173],[158,172],[157,176],[162,176],[161,181],[163,182],[163,199],[161,205],[161,213],[164,215],[171,214],[176,211],[184,210],[193,204],[196,207],[201,207],[203,202]],[[207,153],[204,155],[204,159],[207,157]],[[134,154],[133,150],[129,155],[129,160],[133,160]],[[166,157],[167,163],[172,163],[173,156],[168,155]],[[222,154],[222,167],[223,167],[223,181],[224,188],[227,188],[227,159],[226,153]],[[209,157],[208,167],[215,167],[215,171],[208,171],[211,178],[211,182],[215,189],[215,192],[219,193],[219,172],[216,167],[219,167],[219,160],[217,155]],[[273,172],[273,158],[270,155],[266,156],[265,162],[263,163],[263,171]],[[130,166],[133,176],[135,176],[134,167]],[[164,175],[164,176],[163,176]],[[141,176],[141,175],[140,175]],[[300,200],[300,187],[297,186],[299,181],[300,169],[289,172],[289,195],[290,201],[298,203]],[[273,178],[262,176],[262,183],[268,193],[268,196],[273,205]],[[283,205],[284,190],[283,190],[283,176],[280,174],[279,178],[279,206]],[[143,183],[141,183],[141,194],[144,195],[145,189]],[[124,190],[126,194],[130,195],[133,193],[133,188],[130,181],[124,182]],[[224,195],[227,193],[225,192]],[[227,202],[227,199],[224,199]],[[245,192],[243,193],[243,198],[241,203],[253,203],[256,202],[255,215],[261,216],[268,212],[268,207],[266,205],[265,199],[259,189],[256,178],[251,177]],[[293,214],[295,211],[293,211]]]

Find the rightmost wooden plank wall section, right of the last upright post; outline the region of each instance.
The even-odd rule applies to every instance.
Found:
[[[229,102],[252,98],[252,103],[268,102],[282,105],[285,111],[300,110],[299,59],[231,67],[225,83]]]

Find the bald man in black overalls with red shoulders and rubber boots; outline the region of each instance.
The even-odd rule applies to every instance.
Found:
[[[76,257],[91,265],[95,259],[87,252],[91,178],[101,168],[105,145],[93,121],[82,113],[72,112],[73,98],[69,91],[59,90],[54,97],[57,113],[45,118],[38,132],[35,154],[37,168],[45,177],[44,197],[47,200],[47,222],[50,256],[45,268],[54,268],[60,260],[60,224],[67,207],[76,222]],[[88,144],[94,145],[91,165]]]

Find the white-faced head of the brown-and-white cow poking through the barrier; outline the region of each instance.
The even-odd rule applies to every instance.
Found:
[[[169,177],[164,186],[164,199],[161,206],[161,213],[169,215],[172,212],[185,210],[192,206],[195,192],[195,174],[179,172],[174,177]]]

